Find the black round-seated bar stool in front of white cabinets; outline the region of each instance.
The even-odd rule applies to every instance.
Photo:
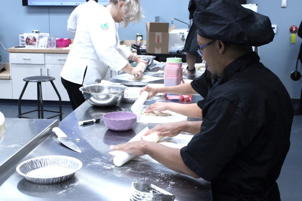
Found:
[[[63,115],[63,112],[62,112],[62,100],[61,100],[61,96],[58,92],[58,90],[56,89],[56,86],[54,85],[53,83],[53,80],[55,80],[54,77],[49,77],[49,76],[33,76],[33,77],[25,77],[23,79],[23,81],[25,81],[25,85],[23,87],[23,90],[21,92],[21,95],[19,97],[19,100],[18,100],[18,108],[19,108],[19,115],[17,115],[19,118],[27,118],[27,119],[31,119],[29,117],[24,117],[22,115],[25,115],[25,114],[28,114],[28,113],[31,113],[31,112],[35,112],[35,111],[38,111],[38,118],[39,119],[44,119],[44,111],[48,111],[48,112],[56,112],[56,113],[59,113],[57,115],[54,115],[54,116],[51,116],[47,119],[51,119],[51,118],[54,118],[54,117],[57,117],[57,116],[60,116],[60,121],[62,121],[62,115]],[[56,91],[56,94],[58,95],[59,97],[59,111],[53,111],[53,110],[44,110],[43,109],[43,98],[42,98],[42,85],[41,85],[41,82],[50,82],[51,85],[53,86],[53,89]],[[31,111],[28,111],[28,112],[24,112],[24,113],[21,113],[21,99],[22,99],[22,96],[25,92],[25,89],[27,87],[27,84],[29,82],[36,82],[37,83],[37,93],[38,93],[38,109],[36,110],[31,110]]]

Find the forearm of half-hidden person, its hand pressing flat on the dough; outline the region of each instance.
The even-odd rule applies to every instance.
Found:
[[[202,119],[202,110],[198,107],[197,103],[192,104],[181,104],[169,102],[166,103],[166,109],[176,112],[181,115],[185,115],[187,117],[199,118]]]

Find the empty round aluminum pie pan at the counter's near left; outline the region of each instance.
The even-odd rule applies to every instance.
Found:
[[[48,155],[23,161],[16,167],[16,171],[33,183],[55,184],[68,180],[81,168],[79,159]]]

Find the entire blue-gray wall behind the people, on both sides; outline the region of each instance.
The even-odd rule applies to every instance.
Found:
[[[134,40],[137,33],[146,37],[146,21],[153,21],[160,16],[161,22],[171,23],[177,18],[189,23],[189,0],[141,0],[145,18],[139,24],[130,24],[120,28],[122,40]],[[290,73],[294,71],[297,54],[302,39],[296,36],[296,43],[291,44],[289,27],[299,26],[302,20],[302,1],[288,1],[287,8],[281,8],[281,0],[247,0],[247,3],[258,4],[258,12],[270,17],[272,24],[277,24],[274,41],[260,47],[261,62],[273,71],[284,83],[291,98],[300,98],[302,79],[292,81]],[[66,24],[73,7],[29,7],[22,6],[21,0],[0,1],[0,41],[6,48],[19,45],[19,34],[30,33],[39,29],[44,33],[55,33],[57,37],[70,37]],[[187,25],[175,21],[177,28]],[[171,24],[170,24],[171,26]],[[8,63],[8,52],[0,47],[2,62]],[[299,62],[298,69],[301,72]]]

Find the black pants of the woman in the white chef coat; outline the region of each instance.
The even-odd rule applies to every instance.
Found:
[[[61,82],[63,86],[65,87],[69,100],[71,102],[72,109],[75,110],[77,107],[79,107],[83,102],[85,102],[85,99],[83,97],[82,92],[79,90],[79,88],[83,85],[76,84],[73,82],[69,82],[67,80],[64,80],[61,77]]]

